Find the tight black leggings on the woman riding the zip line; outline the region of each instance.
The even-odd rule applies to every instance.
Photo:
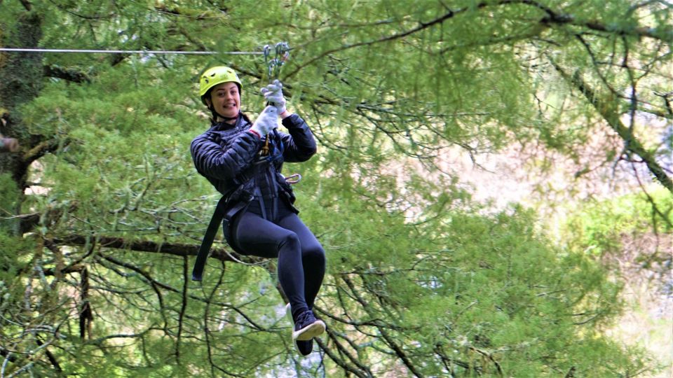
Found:
[[[297,319],[301,312],[313,308],[325,276],[325,251],[285,202],[279,201],[277,214],[268,220],[261,216],[256,202],[236,217],[232,234],[244,253],[278,258],[278,281]]]

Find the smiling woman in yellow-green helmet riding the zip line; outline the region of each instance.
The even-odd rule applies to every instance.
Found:
[[[278,80],[261,90],[271,105],[254,123],[240,112],[243,85],[233,69],[212,67],[199,81],[212,125],[191,142],[194,165],[224,195],[224,235],[231,248],[278,258],[278,281],[294,323],[292,339],[307,356],[313,337],[325,332],[325,323],[311,310],[325,276],[325,251],[297,216],[292,188],[280,170],[285,161],[311,158],[315,139],[304,120],[285,109]],[[278,116],[289,134],[276,130]]]

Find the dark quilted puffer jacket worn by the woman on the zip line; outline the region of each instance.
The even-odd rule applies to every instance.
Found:
[[[285,197],[294,195],[280,174],[283,162],[304,162],[315,154],[315,139],[303,119],[292,114],[282,121],[290,134],[271,132],[272,154],[260,156],[265,137],[250,132],[251,123],[238,116],[236,125],[215,123],[191,142],[191,158],[199,174],[227,197],[228,207],[250,202],[255,194]],[[275,156],[274,153],[275,152]],[[260,186],[264,186],[260,191]]]

